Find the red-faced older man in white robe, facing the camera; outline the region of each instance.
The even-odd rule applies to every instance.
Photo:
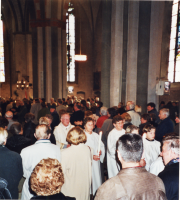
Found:
[[[70,123],[70,115],[65,112],[61,114],[61,123],[55,127],[54,136],[56,138],[56,145],[60,147],[60,149],[64,149],[67,147],[68,143],[66,141],[67,134],[69,130],[71,130],[74,125]]]

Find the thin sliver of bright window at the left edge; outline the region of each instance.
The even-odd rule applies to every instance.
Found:
[[[0,20],[0,83],[5,82],[3,21]]]

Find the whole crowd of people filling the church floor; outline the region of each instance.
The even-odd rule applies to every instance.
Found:
[[[178,199],[178,116],[178,102],[2,98],[1,198]]]

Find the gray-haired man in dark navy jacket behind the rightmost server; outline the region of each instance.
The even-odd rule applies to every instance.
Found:
[[[161,120],[160,124],[156,128],[156,137],[155,139],[159,142],[162,141],[163,136],[167,133],[174,131],[174,125],[171,119],[169,118],[169,109],[162,108],[159,111],[159,118]]]

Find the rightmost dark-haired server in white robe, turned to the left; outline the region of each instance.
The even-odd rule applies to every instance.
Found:
[[[146,161],[146,170],[150,171],[151,164],[158,158],[160,154],[160,142],[156,141],[155,138],[155,127],[152,125],[146,125],[143,128],[143,146],[144,146],[144,157]]]

